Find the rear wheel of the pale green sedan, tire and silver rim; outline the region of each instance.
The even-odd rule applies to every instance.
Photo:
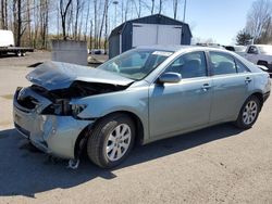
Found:
[[[239,116],[235,125],[240,129],[249,129],[256,123],[261,110],[260,100],[251,95],[249,97],[240,109]]]

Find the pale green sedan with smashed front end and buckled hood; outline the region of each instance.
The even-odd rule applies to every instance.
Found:
[[[76,166],[83,150],[111,168],[136,142],[234,122],[250,128],[270,95],[268,73],[214,48],[140,47],[97,68],[46,62],[17,88],[16,130]]]

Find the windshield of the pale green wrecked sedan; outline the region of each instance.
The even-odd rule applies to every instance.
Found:
[[[97,68],[140,80],[159,66],[173,52],[151,49],[134,49],[122,53]]]

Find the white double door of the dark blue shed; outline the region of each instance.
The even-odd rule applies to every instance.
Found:
[[[182,26],[133,24],[133,47],[150,44],[181,44]]]

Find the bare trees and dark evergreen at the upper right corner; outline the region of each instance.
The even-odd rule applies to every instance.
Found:
[[[236,37],[237,44],[272,43],[272,1],[256,0],[247,14],[246,26]]]

